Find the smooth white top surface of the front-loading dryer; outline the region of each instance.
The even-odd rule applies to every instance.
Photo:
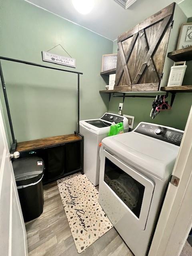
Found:
[[[162,180],[172,173],[179,151],[179,146],[136,132],[104,138],[102,144],[124,162],[140,166]]]

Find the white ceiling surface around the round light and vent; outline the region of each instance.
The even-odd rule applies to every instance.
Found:
[[[130,8],[125,10],[114,0],[95,0],[93,10],[89,14],[83,15],[76,11],[72,0],[26,1],[88,28],[110,40],[116,40],[118,35],[172,2],[181,2],[181,0],[137,0]]]

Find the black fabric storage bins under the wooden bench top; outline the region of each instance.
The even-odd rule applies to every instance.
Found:
[[[20,152],[20,159],[26,157],[40,157],[44,161],[43,184],[47,184],[80,172],[83,169],[82,140],[47,146],[41,149]]]

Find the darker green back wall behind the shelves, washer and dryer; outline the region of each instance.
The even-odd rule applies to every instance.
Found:
[[[188,22],[190,22],[190,19],[191,18],[188,19]],[[113,45],[113,53],[116,52],[117,40],[114,41]],[[186,82],[186,84],[192,84],[192,61],[187,62],[187,65],[188,70],[186,72],[184,82]],[[120,102],[122,102],[122,98],[111,97],[109,103],[109,112],[118,113],[118,106]],[[192,105],[192,93],[177,93],[172,109],[169,111],[160,112],[154,119],[150,118],[149,116],[152,109],[152,102],[152,98],[125,98],[123,104],[123,114],[135,116],[134,127],[136,127],[140,122],[151,122],[184,130]]]

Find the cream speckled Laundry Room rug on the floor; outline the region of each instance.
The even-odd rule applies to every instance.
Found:
[[[98,191],[85,174],[57,180],[78,253],[108,232],[112,223],[98,202]]]

